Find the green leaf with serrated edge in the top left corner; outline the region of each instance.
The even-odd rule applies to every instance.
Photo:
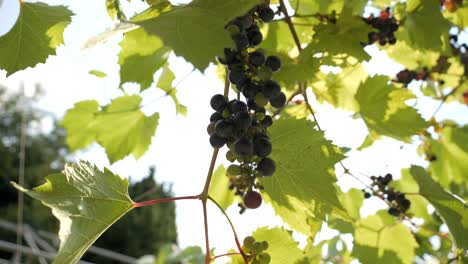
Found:
[[[65,6],[21,3],[13,28],[0,37],[0,69],[7,76],[44,63],[63,44],[63,31],[73,13]]]

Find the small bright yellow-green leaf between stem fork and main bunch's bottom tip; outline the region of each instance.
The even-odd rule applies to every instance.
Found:
[[[229,183],[229,177],[226,176],[226,168],[224,168],[223,165],[219,166],[213,173],[208,194],[224,210],[234,202],[234,193],[230,192],[228,189]]]

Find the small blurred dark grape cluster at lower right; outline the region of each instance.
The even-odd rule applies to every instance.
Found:
[[[376,195],[389,203],[388,213],[393,216],[400,216],[406,213],[411,206],[410,200],[406,199],[405,194],[390,187],[393,176],[388,173],[385,176],[371,176],[372,184],[370,190],[364,189],[364,198],[370,198]]]

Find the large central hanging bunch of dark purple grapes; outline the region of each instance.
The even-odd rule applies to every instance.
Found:
[[[255,48],[263,40],[257,22],[269,22],[274,15],[268,5],[260,5],[226,26],[235,48],[225,48],[224,57],[218,60],[228,69],[227,77],[235,86],[237,98],[230,100],[216,94],[210,101],[215,111],[208,126],[210,144],[214,148],[224,145],[229,148],[226,158],[235,163],[227,169],[229,188],[243,199],[239,205],[241,213],[261,205],[262,196],[258,192],[263,188],[261,180],[272,176],[276,169],[275,162],[268,157],[272,145],[267,129],[273,118],[265,107],[270,104],[281,108],[286,103],[280,85],[271,79],[281,68],[281,60]]]

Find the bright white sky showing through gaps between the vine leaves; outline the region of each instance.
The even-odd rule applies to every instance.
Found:
[[[65,4],[76,14],[72,18],[72,23],[65,29],[65,45],[60,46],[57,49],[57,56],[49,57],[46,64],[39,64],[33,69],[28,68],[8,78],[6,78],[6,72],[0,70],[0,83],[7,85],[12,91],[18,90],[21,83],[26,87],[40,83],[46,95],[38,102],[38,107],[58,118],[61,118],[66,110],[78,101],[97,99],[101,104],[107,104],[112,98],[122,95],[122,91],[118,89],[119,66],[117,64],[118,43],[122,37],[116,36],[105,44],[81,50],[86,40],[113,26],[113,22],[107,15],[104,1],[47,0],[45,2],[51,5]],[[135,5],[128,5],[127,1],[122,1],[122,3],[134,11],[144,8],[140,1],[134,1]],[[13,26],[18,12],[17,1],[6,0],[2,4],[0,0],[0,35]],[[367,51],[372,55],[372,59],[364,65],[370,74],[394,76],[403,69],[401,65],[391,61],[384,52],[380,52],[377,47],[368,47]],[[148,167],[154,165],[156,180],[171,183],[176,196],[198,194],[203,188],[212,154],[206,133],[206,126],[212,113],[209,99],[213,94],[222,92],[223,83],[216,76],[216,67],[213,65],[204,73],[193,71],[191,64],[172,54],[170,68],[177,76],[174,83],[180,82],[177,87],[178,98],[188,108],[187,117],[176,115],[172,100],[164,97],[153,84],[151,89],[142,93],[143,111],[147,115],[159,112],[161,119],[156,136],[153,137],[148,152],[142,158],[135,160],[129,156],[111,165],[104,150],[97,144],[77,152],[75,158],[89,160],[101,168],[110,167],[114,173],[122,177],[131,176],[132,180],[146,176]],[[103,71],[107,77],[97,78],[88,73],[90,70]],[[158,74],[155,76],[156,80]],[[138,93],[135,85],[125,85],[124,88],[129,94]],[[314,96],[311,94],[309,97]],[[352,113],[334,109],[327,104],[319,104],[315,100],[312,100],[312,105],[326,137],[334,144],[350,148],[357,148],[361,145],[367,135],[367,128],[362,120],[352,119]],[[420,113],[425,118],[429,118],[437,106],[438,102],[431,99],[419,100],[417,104]],[[451,118],[461,123],[468,123],[467,116],[458,114],[461,110],[463,109],[456,104],[447,104],[438,113],[437,118]],[[45,120],[42,128],[47,130],[50,124],[50,120]],[[416,144],[405,144],[384,138],[364,151],[348,153],[350,157],[344,163],[358,175],[383,175],[389,172],[398,177],[401,168],[407,168],[411,164],[426,164],[417,155],[416,148]],[[218,156],[217,164],[228,164],[224,160],[224,153],[222,151]],[[336,173],[339,185],[344,191],[351,187],[363,188],[353,178],[342,176],[342,170],[339,167],[336,167]],[[176,206],[180,246],[203,247],[201,203],[178,201]],[[381,208],[385,208],[383,202],[378,199],[368,199],[365,201],[361,214],[372,214]],[[208,212],[211,246],[216,247],[216,252],[220,254],[234,248],[230,228],[219,210],[210,205]],[[264,205],[256,210],[248,210],[243,215],[237,212],[236,205],[228,209],[228,214],[232,217],[240,237],[249,235],[259,226],[282,225],[280,218],[275,216],[270,206]],[[318,239],[326,239],[335,234],[323,231]],[[301,241],[301,246],[304,246],[304,237],[297,235],[296,238]]]

